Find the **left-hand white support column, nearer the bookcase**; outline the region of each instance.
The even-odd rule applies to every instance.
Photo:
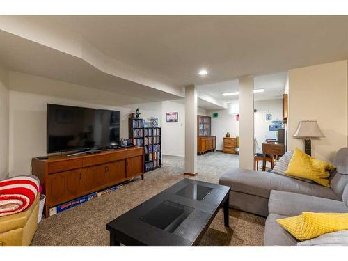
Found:
[[[197,175],[197,89],[185,87],[185,175]]]

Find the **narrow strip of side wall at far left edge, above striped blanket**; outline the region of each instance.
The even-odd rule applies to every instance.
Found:
[[[0,66],[0,180],[8,175],[8,71]]]

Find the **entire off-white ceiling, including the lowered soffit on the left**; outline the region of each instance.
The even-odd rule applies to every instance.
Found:
[[[283,93],[288,69],[348,57],[348,16],[54,15],[0,21],[0,63],[10,70],[120,93],[120,104],[175,100],[183,97],[182,86],[196,84],[200,95],[212,97],[202,106],[209,100],[215,102],[206,106],[221,106],[219,100],[237,98],[221,93],[237,88],[233,79],[247,74],[257,75],[255,88],[266,89],[255,100],[273,99]],[[81,52],[93,49],[88,55],[95,60],[103,56],[99,67],[60,49],[63,42],[84,42]],[[140,72],[133,79],[157,82],[103,71],[111,59]],[[200,68],[207,69],[205,77]]]

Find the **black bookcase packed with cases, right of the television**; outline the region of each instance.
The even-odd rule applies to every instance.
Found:
[[[133,144],[144,148],[145,172],[162,166],[161,128],[145,127],[143,119],[128,119],[129,139]]]

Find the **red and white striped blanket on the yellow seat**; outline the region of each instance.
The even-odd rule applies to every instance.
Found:
[[[0,181],[0,216],[22,212],[31,207],[40,182],[33,175],[12,177]]]

